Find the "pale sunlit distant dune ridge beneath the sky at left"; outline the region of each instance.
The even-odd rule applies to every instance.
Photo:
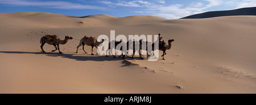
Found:
[[[42,12],[0,13],[2,25],[26,25],[27,27],[104,27],[133,25],[167,20],[158,16],[115,17],[109,15],[67,16]],[[16,24],[15,24],[16,23]]]

